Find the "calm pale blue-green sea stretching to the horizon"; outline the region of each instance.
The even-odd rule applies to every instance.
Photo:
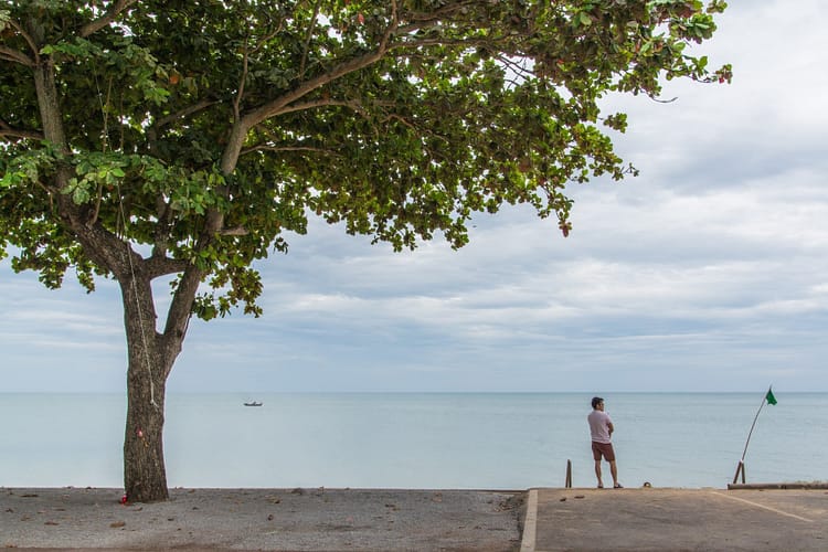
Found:
[[[605,395],[622,482],[725,487],[764,394]],[[749,482],[828,480],[828,393],[776,392]],[[263,401],[261,407],[243,402]],[[595,482],[582,393],[170,395],[171,487],[486,488]],[[0,394],[0,486],[121,487],[121,395]],[[606,465],[605,465],[606,470]],[[607,474],[608,475],[608,474]]]

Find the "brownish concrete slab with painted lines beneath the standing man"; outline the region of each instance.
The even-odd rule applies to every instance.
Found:
[[[531,489],[522,552],[826,551],[825,489]]]

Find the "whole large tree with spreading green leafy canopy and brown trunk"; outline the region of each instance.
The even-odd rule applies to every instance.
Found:
[[[258,316],[256,259],[308,216],[395,250],[634,172],[608,93],[729,81],[698,0],[0,1],[0,256],[117,280],[124,478],[168,497],[164,385],[195,315]],[[151,283],[172,279],[160,322]]]

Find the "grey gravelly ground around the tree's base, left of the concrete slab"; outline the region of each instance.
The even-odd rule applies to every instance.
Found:
[[[0,548],[512,551],[526,492],[171,489],[121,505],[117,489],[0,488]]]

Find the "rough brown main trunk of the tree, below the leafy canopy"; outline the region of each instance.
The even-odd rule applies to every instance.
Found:
[[[156,331],[149,280],[134,276],[129,282],[120,282],[120,287],[129,355],[124,488],[130,501],[167,500],[163,408],[167,374],[174,357],[168,358],[163,339]]]

